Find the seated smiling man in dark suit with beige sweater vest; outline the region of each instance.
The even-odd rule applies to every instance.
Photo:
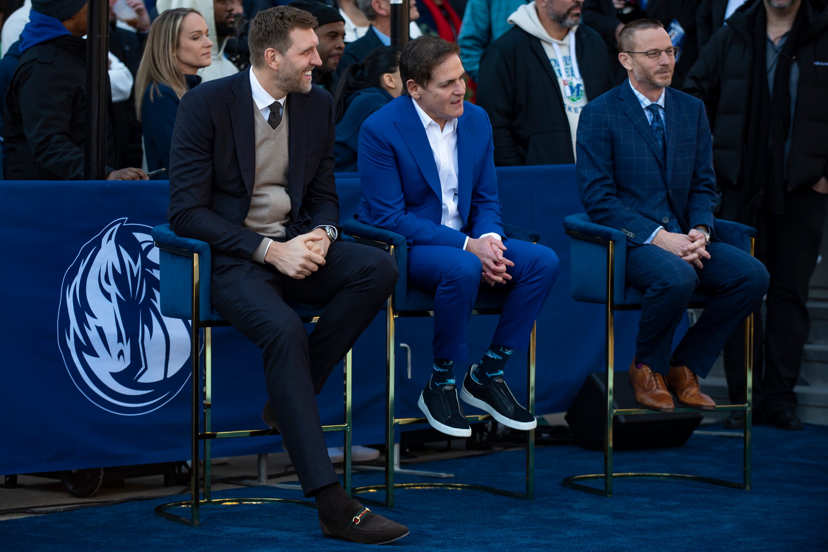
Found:
[[[259,12],[248,39],[252,69],[181,99],[168,217],[180,236],[209,243],[215,309],[262,348],[262,419],[281,431],[322,532],[381,543],[408,530],[339,485],[314,391],[388,299],[398,272],[387,253],[337,239],[334,104],[310,82],[321,64],[316,23],[295,7]],[[325,305],[310,338],[291,302]]]

